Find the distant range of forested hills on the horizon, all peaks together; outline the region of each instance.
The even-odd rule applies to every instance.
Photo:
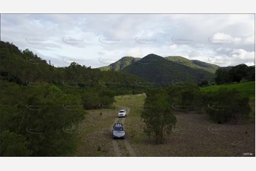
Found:
[[[155,56],[152,57],[152,55]],[[99,67],[99,69],[101,71],[113,69],[131,73],[155,83],[155,86],[167,86],[172,82],[191,81],[200,83],[204,80],[213,80],[215,71],[220,67],[179,56],[159,57],[156,54],[149,54],[142,59],[123,57],[113,64]]]

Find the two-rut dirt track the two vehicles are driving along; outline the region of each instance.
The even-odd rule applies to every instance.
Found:
[[[129,107],[123,107],[123,106],[120,106],[120,105],[116,105],[116,103],[114,103],[114,105],[116,107],[120,107],[120,108],[126,108],[126,117],[128,116],[128,114],[130,113],[130,108]],[[126,121],[126,117],[124,118],[116,118],[115,121],[113,122],[116,123],[116,122],[119,122],[119,123],[123,123]],[[110,129],[112,131],[112,128],[113,128],[113,124],[111,125]],[[126,127],[126,126],[125,126]],[[126,137],[127,137],[127,134],[126,134]],[[132,146],[130,146],[130,143],[128,142],[128,140],[125,138],[124,140],[113,140],[112,143],[113,143],[113,149],[116,153],[116,156],[117,157],[124,157],[126,156],[125,154],[122,153],[121,149],[120,149],[120,146],[118,145],[118,142],[121,142],[123,143],[123,145],[125,146],[126,150],[128,151],[128,156],[130,157],[135,157],[136,154],[135,154],[135,151],[133,150]]]

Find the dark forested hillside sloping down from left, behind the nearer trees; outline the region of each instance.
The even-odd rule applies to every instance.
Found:
[[[86,88],[90,91],[95,89],[97,92],[106,89],[126,94],[133,90],[143,89],[136,85],[135,81],[147,82],[129,73],[100,71],[75,62],[67,67],[55,67],[29,49],[21,51],[16,45],[2,41],[0,41],[0,46],[0,78],[20,86],[29,86],[30,83],[34,85],[48,83],[62,88]],[[123,65],[120,68],[123,68]]]

